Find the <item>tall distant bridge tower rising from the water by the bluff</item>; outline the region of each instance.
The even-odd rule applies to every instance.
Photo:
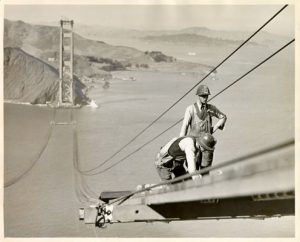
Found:
[[[74,106],[73,20],[60,20],[59,106]]]

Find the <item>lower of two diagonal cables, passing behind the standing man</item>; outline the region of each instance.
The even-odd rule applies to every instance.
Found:
[[[232,85],[236,84],[238,81],[240,81],[242,78],[244,78],[245,76],[247,76],[248,74],[250,74],[252,71],[254,71],[255,69],[257,69],[259,66],[261,66],[262,64],[264,64],[266,61],[268,61],[269,59],[271,59],[273,56],[275,56],[276,54],[278,54],[280,51],[282,51],[283,49],[285,49],[286,47],[288,47],[291,43],[293,43],[295,41],[295,39],[292,39],[291,41],[289,41],[287,44],[285,44],[284,46],[282,46],[280,49],[278,49],[277,51],[275,51],[273,54],[271,54],[269,57],[267,57],[266,59],[264,59],[262,62],[260,62],[259,64],[257,64],[256,66],[254,66],[251,70],[249,70],[248,72],[246,72],[244,75],[242,75],[241,77],[239,77],[238,79],[236,79],[234,82],[232,82],[231,84],[229,84],[228,86],[226,86],[223,90],[221,90],[219,93],[217,93],[215,96],[213,96],[211,99],[209,99],[209,101],[211,101],[212,99],[216,98],[218,95],[220,95],[221,93],[223,93],[225,90],[227,90],[229,87],[231,87]],[[135,151],[131,152],[130,154],[128,154],[127,156],[125,156],[124,158],[122,158],[121,160],[117,161],[116,163],[110,165],[109,167],[98,171],[98,172],[94,172],[94,173],[83,173],[81,171],[79,171],[82,175],[85,176],[93,176],[93,175],[97,175],[97,174],[101,174],[104,173],[105,171],[111,169],[112,167],[116,166],[117,164],[121,163],[122,161],[126,160],[128,157],[130,157],[131,155],[133,155],[134,153],[138,152],[139,150],[141,150],[143,147],[145,147],[146,145],[148,145],[149,143],[151,143],[152,141],[154,141],[155,139],[157,139],[159,136],[161,136],[163,133],[167,132],[168,130],[170,130],[171,128],[173,128],[174,126],[176,126],[177,124],[179,124],[183,119],[180,119],[179,121],[177,121],[176,123],[174,123],[172,126],[170,126],[169,128],[167,128],[166,130],[164,130],[163,132],[161,132],[159,135],[155,136],[154,138],[152,138],[150,141],[146,142],[145,144],[143,144],[142,146],[140,146],[138,149],[136,149]]]

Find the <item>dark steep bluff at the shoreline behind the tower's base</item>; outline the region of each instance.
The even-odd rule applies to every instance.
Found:
[[[4,48],[4,99],[32,104],[57,101],[58,71],[20,48]],[[85,104],[85,85],[75,77],[75,103]]]

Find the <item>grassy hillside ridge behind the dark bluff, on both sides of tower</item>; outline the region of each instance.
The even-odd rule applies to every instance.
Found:
[[[58,68],[59,31],[59,27],[31,25],[23,21],[5,19],[4,47],[22,48],[27,53]],[[151,54],[152,51],[145,53],[133,47],[114,46],[103,41],[86,39],[74,32],[76,57],[74,70],[78,77],[85,73],[86,76],[96,74],[101,78],[110,76],[109,71],[136,66],[151,68],[154,65],[157,69],[159,66],[155,65],[156,62],[162,65],[163,62],[175,61],[175,58],[171,56],[153,52],[155,55]],[[156,58],[157,55],[161,58]],[[103,68],[103,66],[106,67]]]

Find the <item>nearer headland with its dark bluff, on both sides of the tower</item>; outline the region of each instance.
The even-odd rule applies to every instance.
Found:
[[[6,99],[32,103],[55,100],[59,67],[59,34],[60,28],[58,26],[32,25],[23,21],[5,19],[5,58],[11,60],[11,56],[14,56],[18,60],[22,59],[16,63],[6,62]],[[28,62],[34,64],[32,68],[26,69],[22,65],[28,65]],[[165,55],[162,51],[141,51],[133,47],[114,46],[101,40],[84,38],[74,32],[74,74],[76,78],[79,78],[77,81],[81,80],[86,84],[92,81],[107,85],[107,81],[112,78],[111,72],[118,70],[197,71],[204,73],[210,68],[209,65],[177,60],[172,56]],[[47,71],[41,72],[40,69]],[[24,76],[19,73],[20,70],[26,72]],[[27,73],[28,71],[30,73]],[[51,81],[49,81],[50,79]],[[35,85],[36,81],[39,85]],[[51,87],[49,83],[51,83]],[[35,91],[32,93],[24,91],[29,91],[29,88]],[[40,95],[37,93],[38,89],[41,90]],[[79,90],[81,89],[79,88]],[[79,94],[82,94],[82,90],[79,91]],[[85,99],[81,97],[81,100]]]

